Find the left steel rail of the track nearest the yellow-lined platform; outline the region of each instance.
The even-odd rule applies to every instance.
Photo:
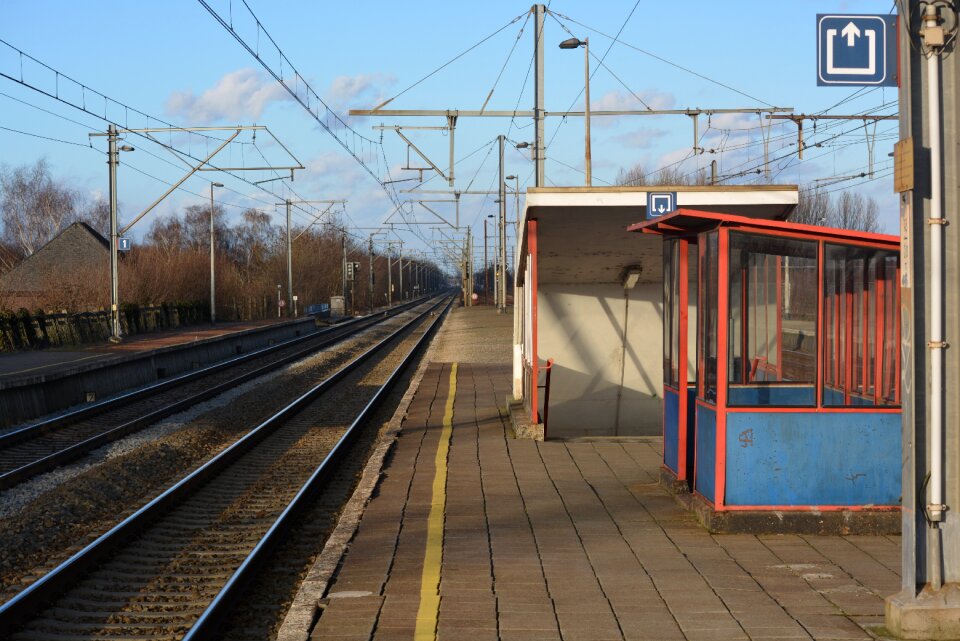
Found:
[[[447,299],[446,296],[444,299],[448,306],[453,301],[453,298]],[[177,504],[189,498],[192,493],[202,488],[217,474],[224,471],[227,466],[229,466],[231,463],[234,463],[238,458],[250,451],[260,441],[278,429],[284,422],[296,415],[309,403],[323,395],[331,387],[339,383],[360,365],[365,363],[367,360],[376,355],[381,349],[390,344],[404,331],[413,326],[415,323],[419,322],[424,316],[427,315],[427,313],[433,309],[436,309],[436,307],[439,307],[443,303],[444,300],[440,300],[429,310],[408,321],[402,327],[392,332],[389,336],[379,341],[362,354],[358,355],[356,358],[331,374],[325,380],[315,385],[296,400],[276,412],[273,416],[260,423],[260,425],[247,432],[244,436],[235,441],[232,445],[226,447],[212,459],[202,464],[194,471],[190,472],[181,480],[177,481],[174,485],[166,489],[132,515],[125,518],[123,521],[112,527],[109,531],[102,534],[93,542],[89,543],[86,547],[74,554],[72,557],[42,576],[23,591],[16,594],[9,601],[0,605],[0,637],[7,638],[7,636],[9,636],[11,633],[15,632],[16,629],[22,623],[24,623],[26,619],[32,615],[36,615],[42,607],[69,589],[71,585],[78,581],[83,574],[96,568],[124,543],[129,541],[138,533],[143,532],[150,524],[161,518],[165,513],[172,510]],[[431,329],[433,329],[433,327],[434,326],[431,326]],[[420,343],[418,342],[418,346],[419,345]],[[335,449],[337,449],[336,446]],[[323,467],[322,464],[321,467]],[[298,493],[297,496],[300,496],[300,493]],[[274,528],[271,527],[268,530],[268,535],[273,531]],[[273,536],[275,537],[276,535]],[[275,540],[273,537],[271,537],[271,539]],[[257,547],[259,548],[261,546],[258,545]],[[269,547],[269,544],[265,547]],[[244,563],[247,564],[246,561]],[[234,581],[232,577],[229,581],[229,585],[234,583],[239,584],[242,582]],[[223,590],[226,590],[226,587]],[[221,596],[223,596],[223,590],[221,590],[221,594],[218,594],[218,596],[215,597],[215,601],[221,599]],[[229,599],[234,594],[234,590],[236,590],[236,588],[231,588],[227,594],[223,596],[223,598]],[[211,618],[215,619],[217,616],[221,616],[221,613],[216,612],[210,616]]]

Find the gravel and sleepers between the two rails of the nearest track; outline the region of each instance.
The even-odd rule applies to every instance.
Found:
[[[423,328],[423,323],[418,325]],[[13,638],[179,639],[414,340],[406,334],[386,354],[361,365],[273,430],[226,473],[125,544]],[[376,429],[371,431],[376,434]],[[363,464],[359,449],[353,450],[359,459],[354,468]],[[340,483],[347,492],[350,476],[355,472]],[[331,507],[328,512],[335,511]],[[271,594],[275,592],[272,588]],[[259,627],[261,611],[262,604],[253,610],[242,608],[245,637],[263,638],[248,636],[252,627]]]

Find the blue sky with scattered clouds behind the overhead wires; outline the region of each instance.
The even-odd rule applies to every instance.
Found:
[[[520,109],[529,109],[532,106],[532,77],[528,77],[528,69],[533,36],[532,21],[525,19],[528,4],[499,0],[484,3],[248,0],[248,3],[287,59],[335,110],[372,107],[404,91],[501,27],[505,28],[497,35],[409,89],[389,107],[479,109],[501,69],[502,75],[487,108],[514,109],[519,104]],[[210,0],[210,5],[225,16],[230,14],[232,6],[238,28],[245,13],[242,4],[241,0],[232,0],[232,3],[231,0]],[[580,38],[589,36],[591,52],[603,57],[605,67],[609,68],[609,71],[596,69],[593,76],[591,103],[594,109],[642,108],[639,97],[653,108],[778,106],[814,113],[853,96],[829,113],[855,114],[868,110],[895,113],[895,89],[858,93],[850,88],[818,88],[815,77],[817,13],[889,13],[891,7],[890,0],[690,1],[683,5],[649,0],[639,3],[635,0],[555,0],[550,3],[554,17],[547,18],[545,31],[546,106],[554,111],[570,107],[582,109],[582,98],[577,98],[583,89],[582,50],[563,51],[556,46],[572,33]],[[611,40],[603,34],[616,34],[621,27],[620,39],[629,46],[616,44],[608,51]],[[182,126],[267,125],[307,167],[306,171],[298,172],[290,197],[345,198],[349,201],[347,222],[361,228],[376,226],[391,213],[392,205],[380,185],[298,104],[289,100],[253,56],[230,37],[199,2],[3,0],[0,39],[50,68],[155,118]],[[269,46],[264,37],[262,45],[262,55],[268,59]],[[596,59],[592,66],[596,68]],[[21,72],[19,55],[4,45],[0,45],[0,72],[15,77]],[[49,69],[28,61],[23,73],[28,83],[60,91],[68,99],[83,99],[76,91],[72,96],[67,95],[69,83],[58,82]],[[57,176],[78,188],[90,193],[106,191],[102,153],[105,143],[99,138],[94,139],[95,150],[86,146],[88,133],[104,130],[103,120],[5,78],[0,78],[0,94],[0,127],[77,143],[70,145],[0,129],[0,162],[20,165],[46,157]],[[88,108],[93,106],[88,104]],[[117,114],[113,116],[120,118]],[[379,140],[381,134],[371,127],[380,123],[444,124],[439,119],[427,118],[353,118],[348,122],[356,132],[375,140]],[[759,166],[763,158],[759,123],[756,114],[702,117],[699,146],[707,151],[694,155],[689,117],[595,119],[594,184],[612,183],[621,169],[635,164],[655,170],[678,163],[685,171],[695,171],[698,167],[708,167],[715,159],[721,176]],[[130,124],[142,126],[142,123]],[[830,191],[850,188],[873,196],[880,204],[884,230],[896,233],[897,205],[887,157],[896,138],[896,122],[881,122],[877,127],[876,179],[872,181],[858,178],[834,182],[866,171],[868,150],[863,126],[857,122],[840,126],[821,121],[818,127],[819,131],[814,133],[808,123],[805,133],[808,137],[819,136],[824,144],[809,149],[802,162],[794,153],[795,126],[780,123],[770,128],[770,156],[777,159],[772,165],[775,179],[801,185],[820,180]],[[546,132],[547,140],[552,141],[547,150],[548,184],[583,184],[582,119],[548,120]],[[468,186],[474,190],[495,189],[497,154],[492,144],[500,133],[513,141],[532,140],[529,120],[511,123],[505,119],[461,119],[458,123],[459,189]],[[437,131],[413,131],[409,135],[446,169],[448,139],[444,135]],[[240,140],[249,142],[249,138]],[[399,138],[388,131],[383,133],[383,140],[382,154],[391,178],[415,177],[416,172],[401,169],[406,163],[406,149]],[[169,138],[168,142],[182,145],[184,149],[189,146],[193,154],[200,153],[203,145],[208,144],[182,137]],[[259,138],[258,143],[257,149],[272,162],[289,162],[282,150],[264,137]],[[162,147],[133,138],[130,144],[137,147],[137,151],[124,155],[120,169],[121,215],[127,220],[166,189],[157,178],[172,182],[182,173],[166,162],[172,158]],[[370,146],[368,154],[379,149],[379,146]],[[254,152],[250,144],[234,145],[227,156],[220,156],[218,160],[225,162],[226,159],[234,164],[239,161],[249,166],[253,162],[250,154]],[[417,164],[418,159],[413,161]],[[526,184],[532,185],[533,166],[528,155],[509,148],[506,164],[508,174],[520,176],[521,189]],[[381,160],[380,169],[383,167]],[[261,180],[269,176],[251,172],[247,177]],[[752,177],[747,176],[736,182],[750,179]],[[234,214],[250,206],[272,212],[274,208],[268,203],[278,200],[278,196],[287,196],[287,187],[280,181],[264,185],[277,192],[278,196],[274,196],[231,176],[211,173],[195,176],[184,184],[189,191],[175,192],[134,228],[133,236],[146,231],[158,216],[202,202],[211,180],[226,184],[227,189],[218,192],[218,199],[230,205],[229,211]],[[397,183],[397,187],[408,189],[417,184],[417,181],[408,181]],[[435,178],[423,188],[445,189],[446,183]],[[482,234],[483,217],[496,211],[493,198],[464,196],[461,202],[461,221],[475,225],[476,231]],[[451,206],[446,203],[436,203],[433,207],[444,215],[452,214]],[[421,214],[429,217],[424,210]],[[276,220],[282,220],[279,210]],[[306,213],[298,212],[296,221],[308,220]],[[430,234],[426,227],[418,230],[423,236]],[[400,233],[410,245],[427,247],[422,239],[408,232]]]

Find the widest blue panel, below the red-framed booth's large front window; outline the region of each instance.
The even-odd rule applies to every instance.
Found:
[[[899,413],[727,414],[728,505],[897,505]]]

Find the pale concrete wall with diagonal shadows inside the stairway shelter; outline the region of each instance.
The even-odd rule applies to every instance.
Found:
[[[554,359],[548,437],[661,434],[662,296],[660,283],[540,285],[540,362]]]

